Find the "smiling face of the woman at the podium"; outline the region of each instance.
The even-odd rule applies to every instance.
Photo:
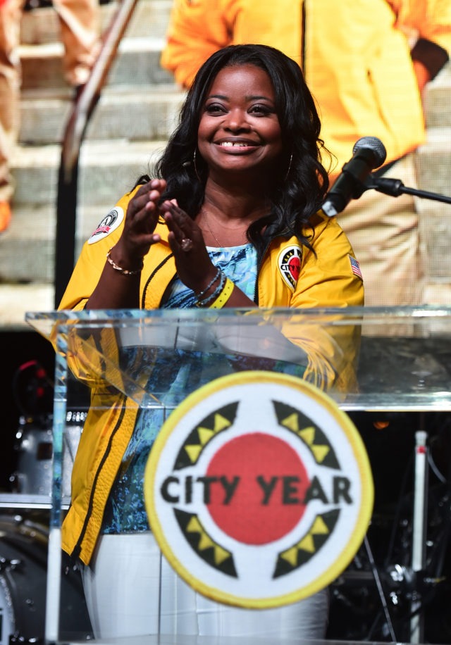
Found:
[[[264,70],[240,65],[218,73],[204,101],[198,147],[210,177],[278,168],[282,132]]]

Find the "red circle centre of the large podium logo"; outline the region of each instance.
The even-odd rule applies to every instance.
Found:
[[[280,539],[304,515],[307,471],[296,451],[271,434],[231,439],[211,459],[206,476],[216,484],[207,506],[211,517],[244,544]]]

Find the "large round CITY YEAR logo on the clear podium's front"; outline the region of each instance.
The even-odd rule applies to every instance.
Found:
[[[335,401],[297,377],[240,372],[171,413],[144,499],[161,551],[215,601],[281,606],[347,567],[371,518],[371,468]]]

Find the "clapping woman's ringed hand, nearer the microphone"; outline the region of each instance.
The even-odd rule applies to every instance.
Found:
[[[216,275],[216,268],[206,250],[202,230],[175,200],[160,206],[169,229],[168,242],[175,258],[178,277],[199,294]]]

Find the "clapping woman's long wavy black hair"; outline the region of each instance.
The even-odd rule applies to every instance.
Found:
[[[302,225],[320,208],[328,189],[328,174],[321,164],[321,150],[326,150],[319,138],[321,123],[299,65],[270,46],[230,45],[216,51],[199,69],[181,108],[178,127],[156,163],[156,176],[168,183],[163,199],[175,197],[192,218],[199,213],[208,175],[197,150],[204,102],[216,75],[225,67],[238,65],[255,65],[271,79],[286,149],[286,166],[268,192],[271,210],[252,223],[247,237],[259,252],[268,237],[277,234],[297,234],[303,244],[310,246],[302,237]],[[264,227],[266,232],[262,234]]]

